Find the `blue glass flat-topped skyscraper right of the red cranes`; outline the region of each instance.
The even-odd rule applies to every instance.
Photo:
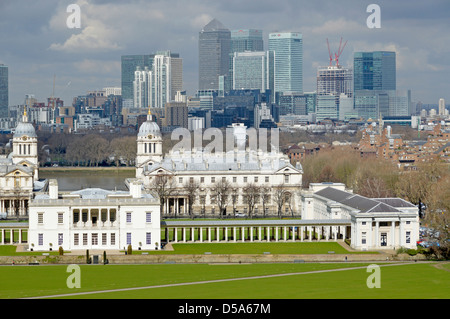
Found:
[[[396,90],[395,52],[355,52],[354,89]]]

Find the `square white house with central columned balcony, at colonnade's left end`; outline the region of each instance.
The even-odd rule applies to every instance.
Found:
[[[36,195],[29,208],[29,250],[154,250],[161,244],[159,201],[134,180],[130,191],[82,189]]]

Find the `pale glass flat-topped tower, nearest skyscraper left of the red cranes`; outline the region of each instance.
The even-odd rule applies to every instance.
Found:
[[[269,51],[274,51],[274,93],[303,93],[303,39],[298,32],[270,33]]]

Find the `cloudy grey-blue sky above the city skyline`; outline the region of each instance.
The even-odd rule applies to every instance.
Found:
[[[80,28],[67,26],[71,4],[80,7]],[[380,8],[380,28],[367,26],[370,4]],[[449,0],[0,0],[0,64],[9,68],[10,105],[54,92],[67,106],[89,90],[120,87],[122,55],[170,50],[183,58],[193,95],[198,33],[216,18],[230,30],[263,30],[265,49],[270,32],[302,33],[305,92],[329,63],[327,39],[335,52],[342,37],[341,65],[352,66],[357,51],[395,51],[397,89],[437,104],[450,101],[449,16]]]

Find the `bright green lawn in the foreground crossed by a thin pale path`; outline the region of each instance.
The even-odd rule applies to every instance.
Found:
[[[82,265],[79,289],[67,288],[66,280],[71,274],[67,272],[67,266],[2,266],[0,298],[52,296],[292,273],[304,274],[103,292],[64,298],[448,299],[450,297],[448,263],[389,266],[380,264],[381,288],[372,289],[366,285],[370,275],[366,271],[366,266],[353,263]],[[351,267],[355,269],[348,269]],[[336,269],[341,271],[317,272]]]

